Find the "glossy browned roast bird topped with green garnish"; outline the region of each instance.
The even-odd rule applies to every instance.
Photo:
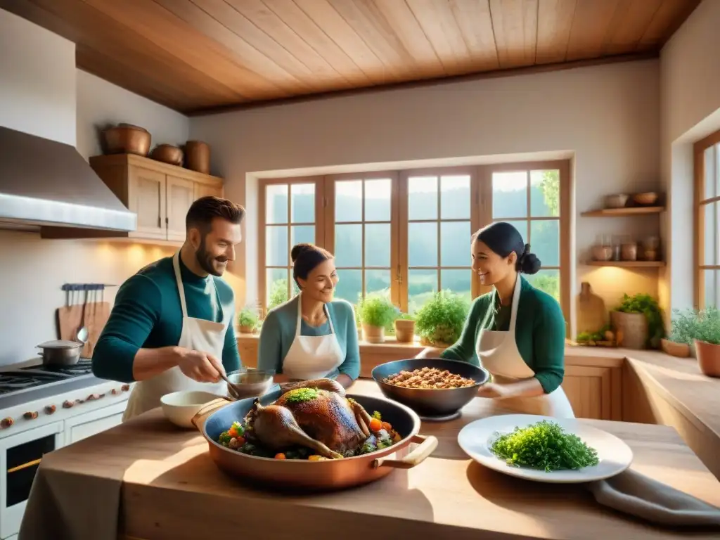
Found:
[[[272,405],[259,399],[245,418],[248,438],[272,451],[305,446],[329,459],[352,454],[371,436],[371,416],[358,402],[345,397],[333,379],[281,385],[283,394]]]

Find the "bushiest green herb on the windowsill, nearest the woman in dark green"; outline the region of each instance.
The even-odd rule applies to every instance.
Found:
[[[469,304],[450,291],[433,294],[415,313],[415,329],[424,346],[449,347],[462,333]]]

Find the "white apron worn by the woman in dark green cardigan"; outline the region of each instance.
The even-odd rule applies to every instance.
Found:
[[[534,377],[535,372],[528,367],[515,339],[515,327],[518,318],[521,280],[518,280],[513,292],[512,311],[510,312],[510,328],[507,332],[497,330],[480,330],[477,336],[476,352],[482,366],[492,374],[493,382],[508,384],[521,379]],[[549,394],[535,397],[508,397],[495,400],[499,408],[517,410],[519,413],[531,415],[553,416],[554,418],[575,418],[570,401],[567,400],[562,387]]]

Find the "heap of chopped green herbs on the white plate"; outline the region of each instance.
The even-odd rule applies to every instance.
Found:
[[[565,433],[557,423],[541,420],[512,433],[495,433],[492,453],[505,459],[508,465],[544,469],[545,472],[563,469],[582,469],[599,463],[598,451],[590,448],[580,437]]]

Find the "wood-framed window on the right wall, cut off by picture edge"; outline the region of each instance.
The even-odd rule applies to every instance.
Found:
[[[695,145],[696,298],[720,307],[720,131]]]

